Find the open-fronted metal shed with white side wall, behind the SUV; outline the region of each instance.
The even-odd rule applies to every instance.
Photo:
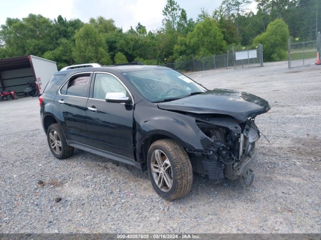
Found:
[[[42,94],[46,84],[57,71],[57,64],[39,56],[28,55],[0,59],[0,87],[15,90],[23,95],[31,84],[36,84],[38,94]]]

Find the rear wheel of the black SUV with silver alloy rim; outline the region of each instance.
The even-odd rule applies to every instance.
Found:
[[[67,145],[66,138],[58,123],[48,127],[47,141],[51,153],[58,159],[70,157],[74,153],[74,147]]]

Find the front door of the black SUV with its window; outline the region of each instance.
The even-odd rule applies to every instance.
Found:
[[[106,102],[108,92],[129,92],[113,74],[96,73],[87,102],[87,129],[94,147],[134,159],[133,104]]]

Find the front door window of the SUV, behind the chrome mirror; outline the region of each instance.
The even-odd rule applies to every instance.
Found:
[[[123,92],[128,96],[126,88],[110,74],[96,73],[93,98],[105,100],[108,92]]]

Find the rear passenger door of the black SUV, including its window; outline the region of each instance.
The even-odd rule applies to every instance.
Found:
[[[55,107],[62,112],[62,127],[67,139],[86,143],[86,104],[89,96],[92,72],[72,75],[59,89],[55,98]]]

